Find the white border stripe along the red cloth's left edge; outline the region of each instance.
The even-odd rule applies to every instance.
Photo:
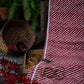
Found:
[[[46,57],[46,49],[47,49],[47,45],[48,45],[48,35],[49,35],[49,23],[50,23],[50,19],[49,19],[49,11],[50,11],[50,0],[49,0],[49,9],[48,9],[48,29],[47,29],[47,39],[46,39],[46,45],[45,45],[45,52],[44,52],[44,58]],[[31,78],[31,81],[34,79],[34,76],[35,76],[35,73],[36,73],[36,70],[38,68],[38,66],[41,64],[42,62],[40,62],[39,64],[36,65],[35,69],[34,69],[34,73],[32,75],[32,78]]]

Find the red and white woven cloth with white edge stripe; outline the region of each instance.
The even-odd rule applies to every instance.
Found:
[[[52,63],[40,62],[30,69],[27,77],[40,84],[84,84],[84,0],[50,0],[47,36],[43,58]],[[46,67],[64,69],[59,80],[43,75]],[[59,74],[61,74],[61,70]],[[49,74],[48,72],[47,74]]]

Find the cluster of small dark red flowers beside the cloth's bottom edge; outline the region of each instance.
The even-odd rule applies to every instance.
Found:
[[[0,64],[2,65],[2,69],[0,69],[0,73],[3,74],[4,81],[7,84],[30,84],[30,79],[26,79],[26,74],[18,74],[16,73],[10,73],[11,70],[17,70],[17,72],[20,71],[21,64],[17,64],[11,61],[8,61],[4,58],[0,59]],[[33,84],[38,84],[35,80],[32,82]]]

